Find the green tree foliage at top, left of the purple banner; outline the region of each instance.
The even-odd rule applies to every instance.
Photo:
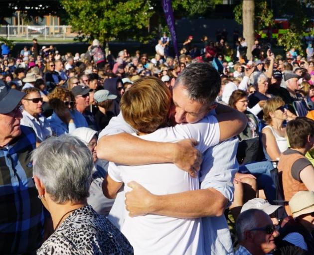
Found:
[[[148,32],[153,9],[147,0],[62,0],[69,23],[83,39],[137,38],[145,41],[154,36]]]

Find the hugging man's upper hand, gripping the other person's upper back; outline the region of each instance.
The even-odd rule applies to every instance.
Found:
[[[184,139],[173,143],[175,147],[172,163],[192,177],[197,177],[202,163],[202,153],[194,147],[197,144],[195,139]]]

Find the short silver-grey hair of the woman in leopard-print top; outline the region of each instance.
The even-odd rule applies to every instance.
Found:
[[[63,134],[44,140],[31,155],[33,175],[54,202],[79,202],[89,196],[94,167],[89,148],[79,138]]]

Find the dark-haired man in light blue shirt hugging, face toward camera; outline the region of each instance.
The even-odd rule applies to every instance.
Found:
[[[209,105],[217,96],[220,83],[217,71],[206,63],[195,63],[185,68],[172,90],[172,115],[175,122],[196,123],[202,120],[211,110]],[[216,110],[217,114],[222,111],[218,107]],[[246,126],[246,117],[238,112],[232,112],[231,117],[229,128],[239,127],[234,133],[236,135]],[[146,141],[124,133],[133,131],[122,123],[122,116],[113,118],[108,128],[101,132],[97,149],[100,158],[128,165],[172,162],[196,176],[200,160],[192,140],[177,143]],[[124,146],[119,145],[122,143]],[[232,181],[238,169],[236,150],[237,139],[230,139],[204,153],[199,177],[201,190],[156,196],[131,182],[129,185],[133,190],[126,194],[127,210],[131,216],[156,214],[176,218],[204,217],[202,224],[206,254],[232,254],[232,242],[223,212],[233,200]],[[158,203],[155,200],[157,197],[160,199]]]

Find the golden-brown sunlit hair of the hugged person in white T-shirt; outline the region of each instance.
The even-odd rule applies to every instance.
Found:
[[[154,76],[137,80],[120,101],[124,120],[139,132],[151,133],[167,122],[171,94]]]

